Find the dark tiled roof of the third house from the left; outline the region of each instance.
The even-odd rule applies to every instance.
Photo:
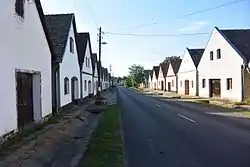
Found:
[[[90,47],[89,48],[90,53],[92,55],[89,33],[88,32],[78,33],[76,42],[77,42],[77,51],[78,51],[78,61],[79,61],[80,68],[82,69],[82,65],[83,65],[84,60],[85,60],[85,53],[86,53],[88,43],[89,43],[89,47]],[[91,61],[92,61],[92,56],[91,56]]]

